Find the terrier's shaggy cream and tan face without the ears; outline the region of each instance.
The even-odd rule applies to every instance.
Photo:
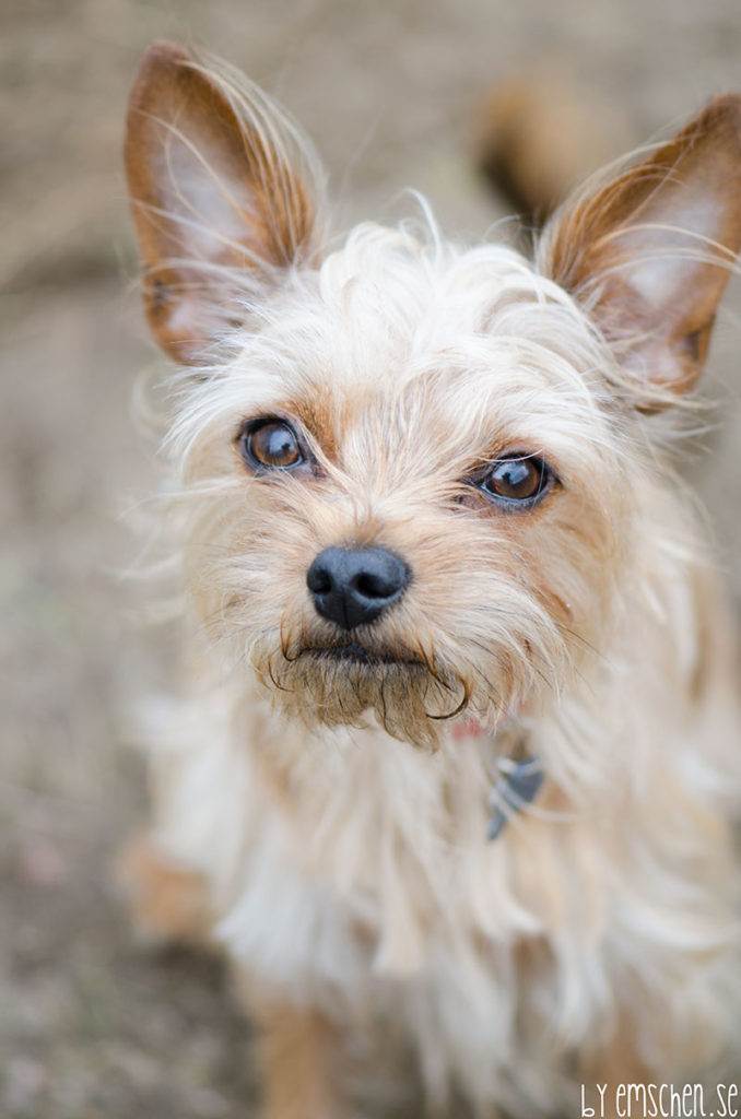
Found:
[[[368,228],[297,274],[177,434],[214,483],[189,529],[213,631],[304,717],[415,741],[559,687],[630,488],[579,312],[506,251],[434,253]]]

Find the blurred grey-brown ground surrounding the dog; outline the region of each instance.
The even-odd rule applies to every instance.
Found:
[[[130,405],[159,358],[120,166],[128,87],[157,37],[278,94],[325,157],[340,226],[390,199],[398,213],[409,186],[457,235],[506,215],[473,152],[482,98],[513,75],[555,67],[590,112],[608,106],[607,154],[741,88],[738,0],[1,0],[6,1119],[243,1119],[252,1099],[219,967],[135,946],[110,873],[143,815],[131,712],[178,659],[170,630],[138,620],[148,589],[120,577],[140,543],[124,513],[158,477]],[[737,603],[740,307],[732,290],[707,379],[717,426],[691,464]]]

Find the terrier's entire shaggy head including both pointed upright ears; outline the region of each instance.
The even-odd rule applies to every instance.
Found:
[[[741,239],[738,105],[574,204],[537,269],[375,226],[323,255],[273,112],[160,46],[130,113],[150,321],[196,367],[170,446],[206,626],[308,723],[532,713],[600,648],[658,493],[638,413],[704,357],[724,262],[686,250]]]

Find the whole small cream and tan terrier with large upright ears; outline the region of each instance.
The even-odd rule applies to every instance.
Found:
[[[669,452],[741,245],[741,96],[532,261],[429,215],[330,242],[296,125],[166,43],[125,162],[200,633],[133,903],[232,960],[261,1113],[383,1111],[400,1071],[456,1117],[711,1075],[737,662]]]

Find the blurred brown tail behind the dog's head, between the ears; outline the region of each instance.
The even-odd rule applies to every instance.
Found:
[[[630,148],[627,121],[553,66],[497,85],[482,101],[477,131],[481,172],[536,228]]]

